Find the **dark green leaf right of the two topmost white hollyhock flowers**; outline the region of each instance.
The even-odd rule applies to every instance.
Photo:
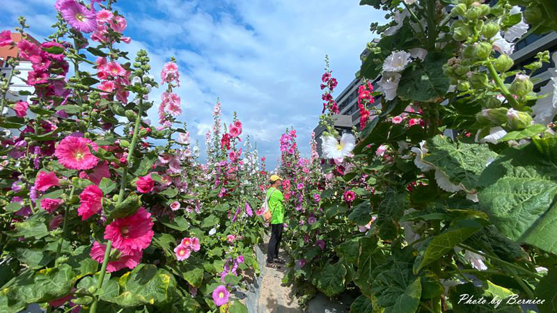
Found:
[[[406,68],[398,83],[397,95],[412,101],[437,102],[450,85],[443,72],[447,55],[430,51],[424,61]]]

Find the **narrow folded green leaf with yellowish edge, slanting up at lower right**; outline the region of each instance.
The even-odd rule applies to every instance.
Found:
[[[414,273],[418,273],[424,266],[437,261],[462,241],[483,227],[479,220],[457,220],[446,231],[434,236],[427,244],[421,263],[414,267]]]

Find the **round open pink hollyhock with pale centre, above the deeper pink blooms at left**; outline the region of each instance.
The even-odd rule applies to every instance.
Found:
[[[98,150],[97,144],[91,139],[68,136],[58,143],[54,154],[65,168],[89,170],[97,165],[99,159],[91,154],[88,145],[91,145],[93,150]]]

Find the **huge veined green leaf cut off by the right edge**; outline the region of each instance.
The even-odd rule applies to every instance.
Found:
[[[480,176],[478,199],[501,233],[557,253],[557,170],[533,144],[509,148]]]

